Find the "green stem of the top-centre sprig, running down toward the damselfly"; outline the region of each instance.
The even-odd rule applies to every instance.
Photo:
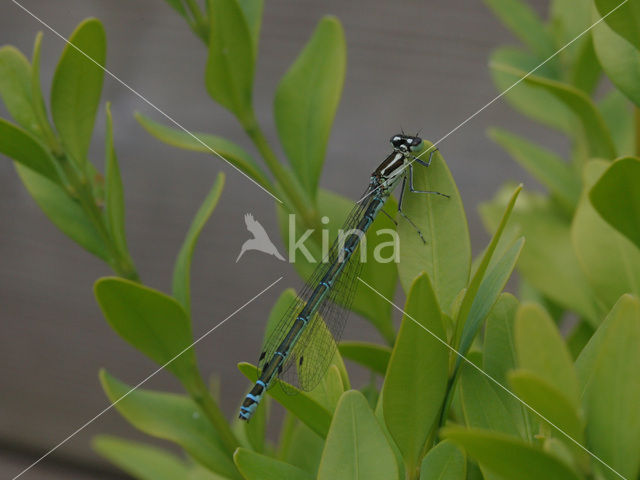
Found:
[[[249,116],[248,121],[242,122],[242,126],[262,155],[262,158],[264,158],[264,161],[267,164],[269,171],[276,179],[280,190],[285,193],[287,199],[291,202],[293,210],[302,216],[304,224],[308,228],[317,229],[320,225],[317,212],[315,211],[315,208],[309,208],[313,205],[313,202],[304,192],[297,179],[280,163],[278,157],[276,157],[269,145],[269,142],[262,133],[253,113]]]

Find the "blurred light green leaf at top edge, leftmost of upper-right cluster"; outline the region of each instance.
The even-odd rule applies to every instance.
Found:
[[[553,38],[536,12],[521,0],[485,0],[511,32],[541,58],[553,55]]]

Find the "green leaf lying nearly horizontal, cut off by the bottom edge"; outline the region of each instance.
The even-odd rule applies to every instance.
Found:
[[[444,438],[465,448],[489,471],[518,480],[579,480],[568,465],[521,440],[486,430],[447,428]]]

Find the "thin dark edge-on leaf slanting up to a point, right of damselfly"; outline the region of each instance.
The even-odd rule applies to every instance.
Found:
[[[487,246],[487,249],[485,250],[484,254],[481,257],[480,263],[478,264],[478,267],[475,269],[475,273],[473,274],[473,277],[471,278],[471,282],[469,283],[469,286],[467,287],[467,291],[465,292],[464,298],[462,299],[462,303],[460,304],[460,309],[458,311],[458,316],[456,319],[456,325],[455,325],[455,333],[454,333],[454,338],[453,338],[453,344],[454,346],[459,346],[461,339],[462,339],[462,334],[464,332],[464,329],[467,329],[467,337],[469,337],[471,335],[471,330],[469,330],[469,328],[475,328],[475,327],[467,327],[466,324],[469,321],[469,315],[471,312],[471,308],[473,307],[473,303],[476,302],[476,297],[478,295],[478,291],[482,285],[482,282],[484,280],[484,276],[487,273],[487,269],[489,268],[489,264],[491,262],[491,259],[493,257],[494,252],[496,251],[496,247],[498,246],[498,242],[500,241],[500,238],[502,237],[502,234],[504,233],[504,229],[507,225],[507,221],[509,220],[509,217],[511,215],[511,212],[513,211],[513,207],[516,203],[516,199],[518,198],[518,195],[520,194],[520,191],[522,190],[522,185],[518,186],[513,194],[511,195],[510,199],[507,202],[507,206],[504,209],[504,213],[502,214],[502,218],[499,222],[499,224],[497,224],[497,228],[495,233],[493,234],[493,237],[491,238],[491,241],[489,242],[489,245]],[[500,292],[498,292],[496,294],[496,298],[497,295]],[[484,299],[479,299],[478,302],[480,302],[481,300]],[[478,303],[478,307],[481,306]],[[489,306],[490,308],[490,306]],[[489,310],[487,310],[488,313]],[[481,313],[481,312],[480,312]],[[483,320],[483,319],[480,319]],[[475,333],[474,335],[475,336]],[[467,338],[467,342],[469,345],[471,345],[471,340],[473,338]],[[465,353],[465,352],[463,352]]]

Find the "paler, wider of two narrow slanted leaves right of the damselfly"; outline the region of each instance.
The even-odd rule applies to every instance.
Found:
[[[492,264],[490,264],[487,274],[480,283],[478,293],[473,299],[469,314],[464,323],[459,347],[462,354],[466,355],[469,348],[471,348],[471,343],[478,334],[484,319],[487,318],[502,289],[507,284],[507,280],[509,280],[516,266],[523,246],[524,238],[520,237],[513,242],[502,257],[493,260]],[[457,362],[460,362],[459,357]]]

